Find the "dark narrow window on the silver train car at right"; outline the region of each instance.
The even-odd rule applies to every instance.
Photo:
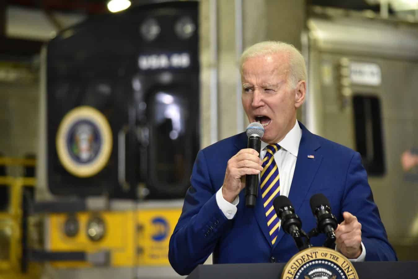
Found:
[[[353,108],[356,146],[364,168],[369,176],[382,176],[385,174],[385,154],[380,100],[376,96],[354,95]]]

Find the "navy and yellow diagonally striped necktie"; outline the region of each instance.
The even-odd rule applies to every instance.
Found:
[[[280,220],[273,208],[274,198],[280,195],[279,170],[274,161],[274,154],[280,149],[280,145],[278,143],[269,144],[265,149],[267,152],[263,159],[263,171],[260,174],[260,188],[271,243],[274,245],[280,226]]]

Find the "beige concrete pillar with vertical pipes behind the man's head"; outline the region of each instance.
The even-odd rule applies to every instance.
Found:
[[[214,3],[216,14],[211,14]],[[237,3],[242,4],[241,11],[236,9],[240,6]],[[237,45],[242,44],[245,49],[260,41],[280,40],[301,49],[306,3],[305,0],[201,0],[199,12],[201,148],[204,148],[214,142],[214,127],[216,140],[221,140],[244,131],[248,124],[237,95],[237,86],[240,85]],[[242,22],[237,22],[240,13]],[[242,26],[238,26],[240,24]],[[236,36],[240,28],[243,30],[241,42]],[[214,71],[217,72],[217,82],[211,85],[211,72]],[[213,103],[212,95],[214,86],[217,89],[216,103]],[[213,109],[217,110],[216,118],[213,118],[213,113],[211,115]]]

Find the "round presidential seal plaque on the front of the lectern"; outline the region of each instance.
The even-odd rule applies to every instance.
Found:
[[[300,251],[283,269],[282,279],[358,279],[351,261],[341,253],[324,247]]]

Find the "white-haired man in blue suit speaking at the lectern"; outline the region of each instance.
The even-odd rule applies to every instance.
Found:
[[[397,260],[359,153],[310,133],[296,120],[306,93],[300,52],[283,42],[255,44],[242,54],[241,73],[245,113],[265,129],[261,152],[247,148],[245,133],[199,151],[170,239],[171,266],[189,274],[211,253],[214,264],[288,261],[298,250],[280,228],[272,200],[288,196],[309,231],[316,227],[309,205],[316,193],[328,198],[336,215],[336,249],[344,256]],[[254,208],[245,207],[246,174],[261,178]],[[311,243],[322,246],[324,240],[320,235]]]

